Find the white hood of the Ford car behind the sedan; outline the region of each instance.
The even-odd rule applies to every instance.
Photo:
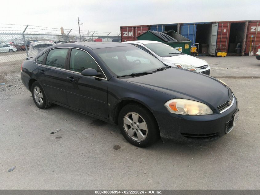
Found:
[[[203,65],[206,65],[206,62],[202,59],[195,58],[191,55],[177,55],[177,56],[171,56],[171,57],[165,57],[162,58],[163,62],[169,62],[169,63],[183,63],[192,65],[194,67],[201,67]]]

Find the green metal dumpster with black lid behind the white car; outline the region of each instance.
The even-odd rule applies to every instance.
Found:
[[[191,40],[178,34],[173,30],[165,32],[156,32],[148,30],[147,32],[139,35],[137,40],[147,40],[147,41],[159,41],[178,49],[182,53],[190,55],[190,43]]]

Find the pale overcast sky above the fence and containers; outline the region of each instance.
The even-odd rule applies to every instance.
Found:
[[[79,16],[82,30],[116,33],[130,25],[260,20],[258,1],[2,0],[0,23],[78,30]]]

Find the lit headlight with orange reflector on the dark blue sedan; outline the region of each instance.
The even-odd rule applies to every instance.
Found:
[[[213,114],[210,107],[201,102],[186,100],[186,99],[173,99],[169,100],[164,106],[171,112],[183,115],[206,115]]]

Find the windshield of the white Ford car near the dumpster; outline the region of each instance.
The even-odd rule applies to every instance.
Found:
[[[170,57],[183,54],[179,50],[170,47],[169,45],[166,45],[164,43],[148,43],[144,45],[160,57]]]

